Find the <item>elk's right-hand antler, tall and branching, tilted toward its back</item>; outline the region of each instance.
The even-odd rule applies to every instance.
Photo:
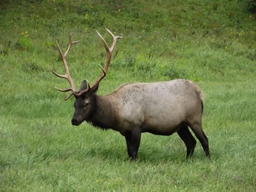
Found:
[[[110,33],[110,36],[112,36],[113,42],[112,42],[112,46],[109,48],[109,46],[107,46],[107,43],[106,43],[105,39],[102,38],[102,36],[100,35],[100,33],[99,33],[98,31],[96,31],[97,34],[98,34],[98,35],[100,36],[100,38],[102,39],[103,45],[104,45],[104,47],[105,47],[105,49],[106,49],[106,51],[107,51],[107,56],[106,56],[106,61],[105,61],[105,67],[102,68],[102,66],[100,65],[100,68],[102,69],[102,74],[100,75],[100,78],[98,78],[98,79],[92,84],[91,87],[95,87],[95,85],[97,85],[103,78],[105,78],[106,73],[107,73],[107,69],[108,69],[108,67],[109,67],[109,65],[110,65],[110,60],[111,60],[112,52],[113,52],[114,47],[115,47],[115,45],[116,45],[116,43],[117,43],[117,39],[118,39],[118,38],[122,38],[122,36],[114,36],[113,33],[111,33],[111,31],[110,31],[109,29],[107,29],[107,27],[105,27],[105,29],[106,29],[106,31],[107,31],[108,33]]]

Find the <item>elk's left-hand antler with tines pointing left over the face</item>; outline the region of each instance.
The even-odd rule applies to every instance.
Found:
[[[70,42],[68,44],[68,49],[65,51],[65,53],[63,54],[58,41],[55,40],[55,43],[57,45],[58,51],[60,53],[61,59],[63,60],[63,65],[65,68],[65,75],[60,75],[58,73],[56,73],[52,68],[50,68],[51,72],[53,72],[54,75],[58,76],[59,78],[65,78],[66,80],[68,80],[68,82],[70,83],[70,88],[65,89],[65,90],[61,90],[58,87],[55,87],[57,90],[61,91],[61,92],[68,92],[68,91],[72,91],[70,93],[70,95],[68,95],[68,97],[65,98],[65,100],[68,100],[72,95],[76,95],[77,90],[75,89],[75,83],[73,82],[73,79],[70,77],[70,73],[69,73],[69,69],[68,69],[68,62],[66,60],[66,57],[68,55],[68,52],[70,51],[71,47],[73,44],[78,43],[79,41],[72,41],[71,36],[69,36]]]

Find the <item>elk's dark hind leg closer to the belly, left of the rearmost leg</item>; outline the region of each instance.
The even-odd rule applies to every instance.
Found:
[[[186,149],[187,149],[186,159],[188,159],[188,157],[193,154],[193,151],[196,146],[196,139],[193,137],[193,135],[188,129],[188,125],[186,124],[182,124],[181,128],[178,129],[177,133],[178,133],[178,136],[181,137],[181,139],[186,145]]]

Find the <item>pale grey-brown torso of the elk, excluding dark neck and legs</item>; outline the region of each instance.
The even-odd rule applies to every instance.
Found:
[[[105,109],[108,113],[113,112],[110,119],[115,119],[114,123],[106,128],[122,135],[132,129],[170,135],[178,130],[181,122],[201,124],[203,93],[189,80],[127,83],[110,95],[97,95],[97,100],[108,106]]]

